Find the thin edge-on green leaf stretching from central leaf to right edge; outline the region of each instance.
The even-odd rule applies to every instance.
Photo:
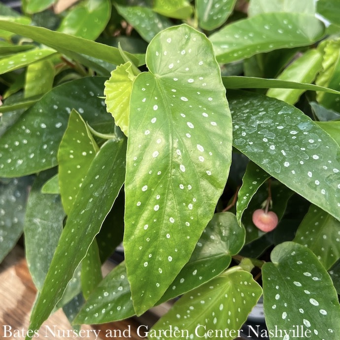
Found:
[[[310,91],[322,91],[340,95],[340,91],[329,89],[327,87],[317,86],[314,84],[298,83],[295,81],[281,79],[265,79],[244,76],[228,76],[222,77],[223,85],[227,89],[300,89]]]

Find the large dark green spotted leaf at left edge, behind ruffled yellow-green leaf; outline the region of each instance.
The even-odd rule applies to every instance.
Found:
[[[2,136],[0,176],[35,173],[57,165],[57,152],[69,113],[75,108],[96,130],[113,125],[104,109],[104,78],[88,77],[55,87],[26,111]]]

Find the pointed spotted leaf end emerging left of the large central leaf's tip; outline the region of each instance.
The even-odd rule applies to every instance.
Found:
[[[82,307],[74,324],[100,324],[135,315],[125,263],[107,274]]]

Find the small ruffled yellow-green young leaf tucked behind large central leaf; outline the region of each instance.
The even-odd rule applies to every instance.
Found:
[[[130,98],[132,84],[136,78],[131,62],[118,66],[111,72],[104,85],[106,110],[112,114],[114,122],[128,136]]]

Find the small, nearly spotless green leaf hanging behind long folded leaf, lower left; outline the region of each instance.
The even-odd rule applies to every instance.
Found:
[[[91,243],[85,258],[81,261],[81,289],[87,299],[102,281],[102,262],[96,239]]]

